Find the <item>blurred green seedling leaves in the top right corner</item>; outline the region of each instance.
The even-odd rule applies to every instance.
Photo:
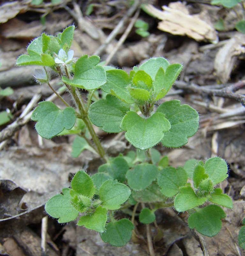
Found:
[[[244,10],[244,1],[243,0],[212,0],[211,4],[213,5],[222,5],[223,7],[227,8],[227,9],[231,9],[234,8],[237,4],[241,4],[242,5],[242,10]],[[236,12],[237,14],[237,12]],[[244,17],[244,15],[243,15]],[[241,32],[241,33],[245,33],[245,19],[242,19],[241,17],[239,17],[239,21],[236,23],[235,28],[237,31]],[[217,30],[224,30],[224,21],[222,19],[219,19],[219,21],[216,23],[215,25]]]

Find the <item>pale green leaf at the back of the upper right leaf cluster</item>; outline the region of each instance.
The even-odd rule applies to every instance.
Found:
[[[159,68],[163,68],[163,70],[166,71],[169,65],[170,63],[166,59],[162,57],[157,57],[147,60],[145,63],[138,67],[138,70],[144,70],[147,74],[151,76],[152,80],[155,80],[155,76]]]

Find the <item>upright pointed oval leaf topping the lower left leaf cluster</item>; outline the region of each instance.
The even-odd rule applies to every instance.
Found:
[[[71,188],[83,196],[93,197],[95,188],[91,177],[84,172],[79,170],[71,181]]]

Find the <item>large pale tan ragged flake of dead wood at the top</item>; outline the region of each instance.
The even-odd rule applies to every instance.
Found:
[[[160,11],[151,4],[146,4],[144,8],[152,16],[162,20],[158,23],[160,30],[173,35],[187,35],[196,41],[205,39],[211,42],[218,41],[217,32],[205,9],[199,14],[191,15],[181,2],[170,3],[168,7],[162,6],[164,11]]]

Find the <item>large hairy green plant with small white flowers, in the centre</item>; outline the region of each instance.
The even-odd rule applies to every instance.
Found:
[[[39,103],[32,114],[37,132],[46,139],[78,134],[72,145],[73,156],[88,149],[105,162],[91,177],[79,170],[70,188],[63,188],[62,194],[48,200],[46,212],[59,223],[79,216],[78,226],[99,232],[103,241],[114,246],[130,240],[139,204],[139,221],[143,224],[154,222],[157,209],[174,206],[179,212],[190,211],[190,228],[205,236],[216,235],[220,219],[226,216],[219,205],[232,208],[231,198],[218,187],[228,176],[225,160],[212,157],[204,163],[190,159],[184,167],[174,168],[169,166],[167,156],[161,157],[152,148],[158,143],[181,147],[197,132],[199,116],[189,105],[170,100],[157,106],[182,65],[152,58],[127,74],[100,66],[98,56],[84,55],[75,60],[70,50],[73,33],[74,26],[70,26],[57,36],[42,34],[29,44],[28,54],[17,59],[17,65],[42,66],[34,77],[50,87],[48,70],[56,72],[76,104],[72,108],[59,94],[64,109],[52,102]],[[86,90],[86,102],[79,89]],[[137,150],[125,156],[107,156],[93,124],[109,133],[124,131]],[[132,222],[115,219],[116,211],[130,207]]]

